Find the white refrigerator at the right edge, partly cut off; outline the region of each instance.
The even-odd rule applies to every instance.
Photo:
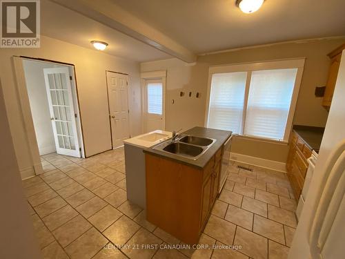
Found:
[[[319,157],[288,259],[345,258],[345,50]]]

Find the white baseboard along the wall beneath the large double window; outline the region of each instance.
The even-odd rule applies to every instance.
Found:
[[[283,163],[283,162],[277,162],[274,160],[266,160],[264,158],[252,157],[250,155],[242,155],[239,153],[230,153],[230,160],[234,162],[250,164],[252,166],[258,166],[263,169],[270,169],[270,170],[286,173],[286,163]]]

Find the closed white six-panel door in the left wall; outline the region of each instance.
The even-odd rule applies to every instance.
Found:
[[[124,144],[130,137],[128,110],[128,75],[106,72],[108,84],[108,99],[112,148]]]

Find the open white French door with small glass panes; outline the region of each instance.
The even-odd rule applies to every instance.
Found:
[[[44,68],[43,73],[57,153],[81,157],[68,67]]]

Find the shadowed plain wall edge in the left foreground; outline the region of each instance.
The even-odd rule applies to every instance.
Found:
[[[0,258],[41,258],[14,154],[0,81]]]

